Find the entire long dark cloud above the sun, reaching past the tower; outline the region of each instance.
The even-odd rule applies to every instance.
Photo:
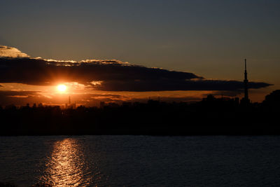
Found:
[[[241,81],[207,80],[193,73],[148,68],[118,60],[61,62],[31,58],[0,58],[0,83],[55,85],[78,82],[104,91],[239,90]],[[264,88],[268,83],[249,83]]]

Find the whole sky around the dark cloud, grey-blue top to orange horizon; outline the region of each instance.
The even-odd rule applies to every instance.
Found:
[[[7,46],[6,49],[13,49],[13,54],[22,54],[20,57],[41,57],[41,61],[37,59],[41,64],[45,63],[43,60],[52,59],[55,63],[55,60],[71,60],[80,66],[81,60],[99,60],[87,64],[95,73],[94,68],[100,60],[104,60],[103,64],[106,63],[106,67],[109,67],[109,60],[114,60],[113,63],[118,62],[116,66],[123,69],[120,73],[123,75],[127,74],[128,70],[125,69],[128,68],[134,67],[132,72],[139,72],[135,67],[146,68],[142,69],[145,73],[137,74],[138,77],[126,76],[130,81],[142,80],[141,83],[145,86],[128,81],[120,82],[120,78],[104,81],[101,78],[102,74],[99,74],[99,77],[90,77],[90,80],[84,78],[79,81],[64,77],[64,83],[69,84],[68,93],[73,85],[78,84],[84,88],[79,88],[79,91],[72,89],[72,95],[78,92],[93,95],[84,94],[83,98],[80,98],[81,95],[77,97],[78,102],[87,104],[99,102],[101,99],[115,101],[120,98],[130,100],[162,97],[190,100],[209,94],[211,89],[214,89],[211,93],[217,95],[241,97],[239,83],[238,88],[236,84],[232,85],[235,89],[225,89],[224,86],[217,89],[213,84],[210,88],[209,83],[203,84],[205,79],[220,81],[218,83],[243,81],[246,57],[249,81],[272,84],[258,85],[258,89],[249,91],[253,102],[261,102],[269,92],[280,89],[279,9],[280,1],[272,0],[1,1],[0,45]],[[5,48],[0,50],[2,57],[7,56],[3,52]],[[5,60],[1,62],[8,63]],[[14,63],[13,60],[10,62]],[[29,65],[32,64],[29,62],[26,67],[30,69]],[[125,66],[125,62],[129,65]],[[19,67],[22,67],[22,64]],[[77,68],[71,67],[67,72],[74,74],[75,79],[83,74],[77,71]],[[153,67],[162,71],[151,69]],[[177,81],[174,82],[174,74],[168,76],[166,85],[162,80],[151,81],[153,78],[148,76],[147,72],[152,70],[157,71],[155,74],[164,74],[163,70],[166,70],[167,74],[176,71]],[[6,72],[7,69],[2,71]],[[27,72],[25,69],[22,71]],[[36,69],[34,71],[36,72]],[[65,76],[64,70],[59,70],[58,74],[62,74],[62,71]],[[203,77],[204,82],[200,83],[200,86],[197,86],[196,82],[195,88],[193,86],[190,89],[190,85],[181,85],[183,83],[178,82],[178,72],[186,73],[181,75],[183,79],[181,77],[180,81],[190,81],[189,75],[193,74],[197,76],[193,78]],[[167,77],[162,75],[160,78]],[[59,100],[52,90],[55,89],[55,83],[31,83],[23,76],[18,79],[14,76],[11,79],[10,82],[7,77],[0,79],[0,97],[9,97],[0,99],[2,104],[6,104],[7,101],[33,102],[36,100],[34,95],[38,96],[38,93],[41,93],[41,101],[45,103],[65,100]],[[45,81],[41,76],[34,79]],[[55,82],[54,79],[52,77],[52,81]],[[92,87],[92,84],[88,84],[92,81],[101,84]],[[147,85],[150,87],[147,88]],[[155,85],[159,85],[160,88],[155,89]],[[172,88],[167,85],[172,85]],[[30,92],[34,97],[31,97]],[[15,97],[15,94],[18,97]],[[3,102],[4,100],[6,102]]]

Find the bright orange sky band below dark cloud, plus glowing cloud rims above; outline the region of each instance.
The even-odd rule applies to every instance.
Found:
[[[22,53],[17,48],[10,48],[7,46],[0,46],[1,57],[29,57],[29,55]],[[36,59],[36,58],[35,58]],[[38,58],[41,59],[41,58]],[[46,60],[53,61],[53,60]],[[58,61],[56,62],[64,62]],[[76,63],[76,61],[68,61],[70,63]],[[87,62],[87,61],[85,61]],[[90,60],[89,62],[92,62]],[[103,62],[102,62],[103,63]],[[104,62],[105,63],[105,62]],[[106,62],[107,64],[110,62]],[[118,62],[122,64],[123,62]],[[128,64],[125,62],[124,64]],[[67,65],[66,65],[67,66]],[[239,72],[240,75],[243,72]],[[68,102],[69,96],[71,102],[76,104],[83,104],[86,106],[99,106],[99,102],[146,102],[147,99],[160,99],[162,101],[176,101],[176,102],[193,102],[199,101],[202,97],[206,97],[208,94],[214,94],[216,97],[243,97],[242,90],[238,92],[228,91],[211,91],[211,90],[174,90],[174,91],[102,91],[89,87],[88,84],[79,82],[64,82],[59,74],[54,74],[54,78],[57,77],[57,81],[51,85],[33,85],[26,83],[0,83],[0,94],[3,94],[3,98],[0,99],[1,105],[6,104],[26,104],[26,103],[43,103],[43,104],[65,104]],[[248,77],[251,74],[249,71]],[[242,77],[240,77],[241,79]],[[36,77],[34,77],[36,80]],[[249,80],[250,81],[250,80]],[[66,90],[61,92],[57,89],[57,85],[63,84],[66,86]],[[91,85],[102,85],[102,81],[92,81]],[[274,86],[261,89],[249,90],[249,96],[253,102],[262,102],[267,95],[268,90],[273,90]],[[5,99],[6,98],[6,99]]]

